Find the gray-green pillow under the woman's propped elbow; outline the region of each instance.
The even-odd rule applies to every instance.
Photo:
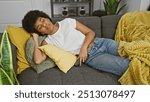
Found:
[[[41,45],[41,42],[44,39],[45,39],[45,36],[39,36],[39,45]],[[41,64],[34,63],[34,60],[33,60],[34,41],[32,37],[29,38],[29,40],[27,41],[25,51],[26,51],[27,61],[30,63],[31,67],[33,67],[36,70],[37,73],[41,73],[45,71],[46,69],[53,68],[56,66],[55,63],[52,61],[52,59],[50,59],[49,57],[47,57],[47,59]]]

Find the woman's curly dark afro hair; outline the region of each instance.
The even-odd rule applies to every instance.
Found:
[[[41,35],[41,33],[38,32],[34,28],[34,25],[35,25],[36,20],[38,19],[38,17],[48,18],[52,22],[51,18],[46,13],[44,13],[43,11],[31,10],[31,11],[27,12],[27,14],[22,19],[22,27],[28,33],[37,33],[37,34]]]

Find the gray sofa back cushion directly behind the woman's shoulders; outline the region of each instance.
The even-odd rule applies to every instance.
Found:
[[[89,16],[89,17],[74,17],[81,23],[85,24],[89,28],[95,31],[97,37],[101,37],[101,18],[97,16]],[[52,18],[53,23],[60,21],[64,18]]]

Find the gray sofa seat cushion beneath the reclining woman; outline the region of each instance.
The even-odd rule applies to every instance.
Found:
[[[32,68],[24,70],[19,76],[23,85],[116,85],[119,84],[118,76],[101,72],[82,65],[73,67],[64,74],[57,67],[50,68],[37,74]]]

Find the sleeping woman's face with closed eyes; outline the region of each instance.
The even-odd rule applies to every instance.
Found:
[[[48,18],[39,17],[34,27],[42,34],[51,34],[53,32],[53,23]]]

